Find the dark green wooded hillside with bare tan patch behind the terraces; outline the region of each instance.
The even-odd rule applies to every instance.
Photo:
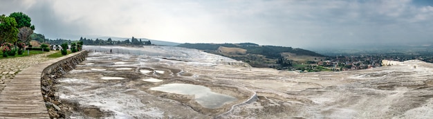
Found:
[[[195,48],[234,60],[248,62],[254,67],[284,68],[291,64],[304,64],[324,57],[319,53],[284,46],[260,46],[252,43],[241,44],[179,44],[179,47]],[[288,55],[289,54],[289,55]],[[317,61],[316,61],[317,62]]]

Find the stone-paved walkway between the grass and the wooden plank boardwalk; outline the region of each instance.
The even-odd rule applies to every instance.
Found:
[[[52,58],[46,57],[47,55],[56,53],[55,51],[50,51],[49,53],[31,55],[27,57],[15,57],[0,60],[0,92],[3,91],[4,87],[12,80],[17,73],[19,73],[24,68],[45,62]]]

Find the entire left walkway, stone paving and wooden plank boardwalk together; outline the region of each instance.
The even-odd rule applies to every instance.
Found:
[[[51,53],[0,60],[0,118],[49,118],[41,74]]]

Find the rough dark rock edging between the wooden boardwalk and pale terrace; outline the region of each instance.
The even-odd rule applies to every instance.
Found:
[[[41,75],[41,89],[42,95],[50,114],[50,118],[65,118],[64,114],[67,107],[63,107],[59,95],[56,92],[56,78],[62,76],[64,73],[71,71],[77,64],[86,60],[87,51],[80,51],[72,53],[63,57],[56,58],[54,63],[44,68]]]

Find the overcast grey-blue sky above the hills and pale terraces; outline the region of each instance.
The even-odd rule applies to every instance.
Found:
[[[50,39],[143,37],[178,43],[336,48],[433,41],[423,0],[0,0]]]

